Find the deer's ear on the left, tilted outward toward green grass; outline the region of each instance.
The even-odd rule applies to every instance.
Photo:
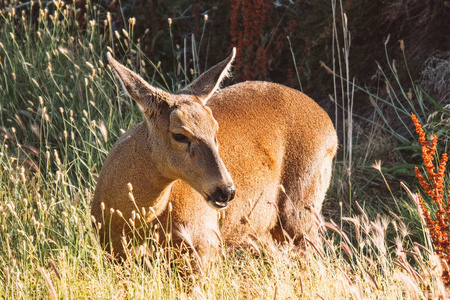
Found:
[[[151,86],[141,76],[116,61],[109,52],[107,53],[107,58],[120,79],[123,88],[136,101],[146,116],[152,115],[152,112],[157,110],[159,104],[163,102],[171,106],[169,93]]]

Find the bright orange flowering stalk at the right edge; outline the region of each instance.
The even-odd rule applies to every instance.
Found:
[[[440,255],[447,264],[450,265],[450,189],[447,196],[447,204],[444,202],[444,180],[445,167],[447,164],[447,153],[443,153],[439,162],[439,167],[435,168],[433,164],[434,156],[436,155],[437,137],[433,134],[431,143],[425,137],[425,131],[422,129],[419,119],[412,114],[411,119],[416,127],[416,132],[419,135],[419,142],[422,145],[423,164],[426,170],[426,177],[422,175],[419,168],[415,168],[416,177],[420,185],[423,187],[425,193],[431,197],[438,208],[436,211],[436,218],[433,220],[425,205],[425,201],[419,195],[419,205],[421,213],[425,219],[428,230],[430,231],[431,241],[433,243],[436,254]],[[431,182],[431,184],[429,183]],[[450,286],[450,274],[444,271],[442,279],[447,286]]]

